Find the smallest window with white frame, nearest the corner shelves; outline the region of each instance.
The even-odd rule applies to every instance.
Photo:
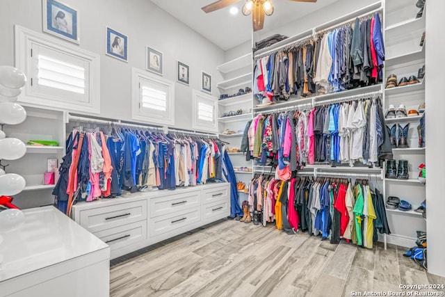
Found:
[[[216,131],[216,104],[215,97],[193,90],[193,129],[201,131]]]

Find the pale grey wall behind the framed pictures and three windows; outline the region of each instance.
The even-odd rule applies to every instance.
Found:
[[[61,2],[79,11],[80,47],[101,54],[100,116],[131,120],[131,67],[145,70],[145,46],[149,45],[163,52],[166,79],[176,80],[177,60],[190,66],[191,86],[175,83],[175,126],[191,129],[192,89],[201,89],[204,70],[212,75],[213,94],[218,93],[216,83],[222,78],[216,66],[224,61],[222,49],[149,0]],[[0,65],[14,65],[14,24],[42,33],[42,1],[0,1]],[[129,63],[105,55],[106,26],[129,37]]]

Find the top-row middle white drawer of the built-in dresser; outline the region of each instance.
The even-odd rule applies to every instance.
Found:
[[[191,207],[199,207],[201,192],[193,191],[170,196],[150,199],[150,217],[163,216],[176,211],[183,211]]]

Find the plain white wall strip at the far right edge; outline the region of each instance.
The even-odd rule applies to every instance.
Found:
[[[444,11],[445,1],[428,1],[426,8],[426,231],[428,272],[445,276],[444,179],[445,179],[445,81]],[[442,59],[442,60],[441,60]]]

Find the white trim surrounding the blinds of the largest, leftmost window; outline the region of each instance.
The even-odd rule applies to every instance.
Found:
[[[79,56],[90,62],[89,79],[89,99],[90,102],[63,102],[51,99],[48,96],[35,95],[31,88],[31,45],[40,44],[46,47],[63,51],[72,56]],[[19,96],[18,101],[26,106],[44,107],[45,109],[55,109],[62,111],[80,111],[83,113],[100,113],[100,55],[86,51],[74,45],[49,35],[37,33],[22,26],[15,25],[15,67],[24,72],[28,77],[28,83],[24,87],[24,92]]]

